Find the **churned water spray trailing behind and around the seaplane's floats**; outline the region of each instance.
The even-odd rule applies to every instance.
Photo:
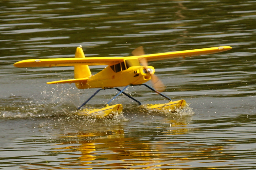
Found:
[[[46,87],[40,93],[40,95],[32,95],[31,97],[23,96],[14,96],[5,97],[0,99],[0,118],[48,118],[56,117],[57,119],[66,119],[66,121],[77,120],[81,118],[78,116],[78,111],[76,108],[84,102],[84,95],[81,95],[85,91],[78,90],[74,86],[70,85],[57,85],[54,88]],[[90,90],[86,90],[86,93],[89,93]],[[85,94],[87,95],[87,94]],[[101,100],[104,97],[100,96],[99,99],[96,98],[96,103],[104,103]],[[91,108],[101,108],[102,104],[88,104],[86,107]],[[128,114],[148,114],[148,115],[162,115],[162,116],[186,116],[192,115],[194,112],[192,108],[189,107],[189,104],[182,109],[176,109],[175,112],[169,110],[149,110],[146,109],[143,105],[138,107],[137,104],[126,104],[123,109],[124,115],[114,115],[111,120],[102,119],[101,122],[110,123],[112,122],[121,122],[128,121],[129,118],[126,117]],[[94,118],[85,118],[82,119],[88,122],[96,122],[99,120],[94,120]],[[57,120],[58,121],[58,120]],[[75,123],[75,122],[74,122]],[[85,123],[85,122],[84,122]],[[87,123],[85,123],[87,124]]]

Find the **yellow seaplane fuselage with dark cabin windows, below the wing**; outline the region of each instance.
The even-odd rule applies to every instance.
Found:
[[[147,69],[155,72],[154,67]],[[144,66],[140,66],[138,59],[124,60],[124,62],[107,66],[101,72],[89,77],[86,83],[80,83],[79,89],[87,88],[109,88],[127,85],[143,84],[151,79]]]

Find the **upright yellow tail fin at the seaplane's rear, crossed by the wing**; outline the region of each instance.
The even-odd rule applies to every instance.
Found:
[[[76,48],[75,58],[85,58],[84,51],[82,50],[82,46]],[[74,66],[74,77],[75,79],[82,79],[91,77],[91,71],[89,66],[82,65],[82,66]],[[78,89],[85,89],[85,83],[75,83]]]

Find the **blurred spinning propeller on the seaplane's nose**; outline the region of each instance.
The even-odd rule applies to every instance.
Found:
[[[132,51],[132,55],[133,56],[143,56],[145,55],[143,46],[138,47],[137,49]],[[153,84],[153,87],[155,90],[159,91],[159,92],[163,92],[165,90],[165,85],[162,83],[162,81],[154,74],[155,71],[148,68],[148,61],[146,60],[146,58],[140,58],[139,59],[140,64],[142,64],[142,66],[144,66],[145,68],[145,72],[149,73],[151,75],[151,82]]]

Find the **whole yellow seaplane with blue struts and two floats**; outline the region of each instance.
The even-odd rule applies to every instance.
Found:
[[[76,48],[74,58],[51,58],[51,59],[30,59],[16,62],[15,67],[55,67],[55,66],[74,66],[74,79],[58,80],[48,82],[47,84],[59,83],[75,83],[78,89],[100,88],[91,97],[88,98],[79,108],[80,110],[87,102],[91,100],[100,90],[116,89],[118,94],[114,96],[104,108],[83,109],[79,112],[81,115],[90,115],[96,118],[111,117],[111,115],[121,113],[122,104],[110,103],[123,94],[141,105],[131,95],[124,90],[128,86],[144,85],[157,94],[165,97],[169,102],[164,104],[148,104],[148,109],[169,110],[174,111],[177,108],[183,108],[186,104],[185,100],[171,101],[171,99],[161,92],[165,90],[164,84],[156,77],[155,69],[148,66],[148,61],[167,60],[179,57],[192,57],[199,55],[208,55],[223,52],[232,49],[230,46],[211,47],[196,50],[185,50],[175,52],[165,52],[145,55],[143,47],[133,50],[130,57],[85,57],[82,46]],[[107,65],[102,71],[95,75],[91,74],[89,66]],[[151,80],[153,87],[144,83]],[[124,87],[122,90],[118,87]]]

